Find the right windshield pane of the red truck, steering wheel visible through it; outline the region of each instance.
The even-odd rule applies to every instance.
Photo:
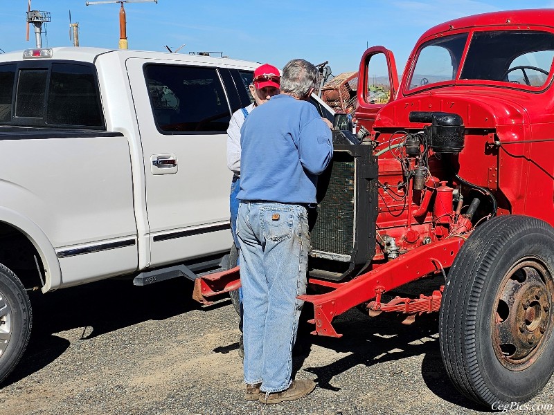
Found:
[[[553,55],[552,33],[530,30],[475,33],[461,79],[542,86],[550,72]]]

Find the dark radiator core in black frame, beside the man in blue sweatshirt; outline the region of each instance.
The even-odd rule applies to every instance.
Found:
[[[325,196],[318,204],[316,223],[311,232],[312,257],[350,261],[354,248],[355,163],[346,153],[335,152],[332,165],[319,178],[318,192]]]

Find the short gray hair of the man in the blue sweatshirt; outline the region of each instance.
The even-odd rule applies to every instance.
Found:
[[[317,68],[304,59],[292,59],[283,68],[280,90],[296,98],[305,98],[319,81]]]

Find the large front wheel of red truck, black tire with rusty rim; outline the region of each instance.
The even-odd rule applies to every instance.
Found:
[[[538,394],[554,372],[553,306],[551,225],[510,215],[477,228],[452,264],[439,313],[456,388],[493,409]]]

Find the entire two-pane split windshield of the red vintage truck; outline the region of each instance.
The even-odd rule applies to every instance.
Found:
[[[467,33],[424,44],[408,89],[454,80]],[[496,30],[473,34],[461,80],[542,86],[554,58],[554,35],[531,30]]]

